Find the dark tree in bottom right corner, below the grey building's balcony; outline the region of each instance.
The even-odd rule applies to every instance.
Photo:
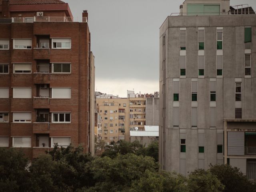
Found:
[[[255,183],[250,182],[236,167],[229,164],[212,165],[210,172],[225,186],[224,192],[255,192]]]

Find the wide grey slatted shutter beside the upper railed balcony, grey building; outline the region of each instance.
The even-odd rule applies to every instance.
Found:
[[[244,132],[228,132],[228,155],[244,155]]]

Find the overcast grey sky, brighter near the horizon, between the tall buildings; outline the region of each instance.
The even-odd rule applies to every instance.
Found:
[[[159,90],[159,27],[184,0],[63,0],[74,19],[88,10],[95,90],[126,97],[126,90]],[[230,5],[255,0],[230,0]]]

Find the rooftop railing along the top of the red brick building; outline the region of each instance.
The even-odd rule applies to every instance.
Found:
[[[60,16],[35,16],[35,17],[12,17],[0,18],[0,23],[33,23],[33,22],[79,22],[78,18],[60,17]],[[83,17],[82,22],[87,22],[87,18]]]

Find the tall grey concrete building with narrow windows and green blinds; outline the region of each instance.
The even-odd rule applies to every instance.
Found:
[[[256,15],[186,0],[160,27],[159,161],[186,175],[229,163],[256,178]]]

